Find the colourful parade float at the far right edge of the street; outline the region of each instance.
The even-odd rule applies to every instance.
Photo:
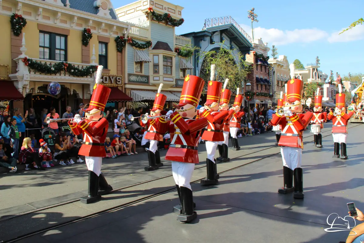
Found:
[[[348,111],[354,111],[354,115],[350,122],[364,122],[364,77],[361,77],[361,84],[351,91],[352,102],[348,107]]]

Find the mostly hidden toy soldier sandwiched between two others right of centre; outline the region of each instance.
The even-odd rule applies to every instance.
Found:
[[[229,79],[226,79],[223,89],[221,91],[221,98],[220,98],[220,111],[228,110],[229,109],[229,102],[231,97],[231,90],[226,89],[227,83],[229,83]],[[230,158],[227,157],[228,155],[228,147],[229,147],[229,133],[230,133],[230,125],[229,121],[234,114],[234,110],[229,110],[227,117],[225,117],[223,121],[223,136],[224,141],[219,142],[217,148],[219,150],[220,157],[217,158],[218,161],[230,161]]]

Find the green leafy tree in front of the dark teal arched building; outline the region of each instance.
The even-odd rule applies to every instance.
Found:
[[[211,64],[216,64],[215,81],[224,82],[228,78],[227,89],[234,91],[237,87],[242,88],[242,82],[247,80],[246,76],[252,71],[253,67],[245,64],[244,55],[241,52],[233,55],[234,51],[226,50],[221,45],[217,51],[200,52],[198,54],[200,60],[203,59],[199,77],[206,81],[205,90],[207,81],[210,80]],[[238,63],[236,63],[236,60]]]

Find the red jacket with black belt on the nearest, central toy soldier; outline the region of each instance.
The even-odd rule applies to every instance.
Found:
[[[165,159],[198,164],[199,131],[207,126],[207,119],[205,117],[198,120],[184,119],[176,111],[170,115],[170,118],[171,144]]]

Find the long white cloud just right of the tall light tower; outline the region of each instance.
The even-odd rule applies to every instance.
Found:
[[[251,36],[252,28],[242,24],[241,27]],[[254,28],[254,39],[262,38],[263,42],[268,42],[269,45],[286,45],[290,43],[309,43],[316,40],[327,38],[329,35],[326,31],[312,29],[301,30],[279,30],[276,28],[266,29],[262,27]]]

